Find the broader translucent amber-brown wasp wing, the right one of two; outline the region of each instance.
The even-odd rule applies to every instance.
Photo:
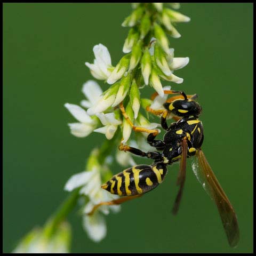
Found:
[[[217,205],[229,245],[235,247],[239,241],[236,213],[207,162],[203,151],[198,150],[196,156],[197,163],[193,163],[193,171],[203,188]]]

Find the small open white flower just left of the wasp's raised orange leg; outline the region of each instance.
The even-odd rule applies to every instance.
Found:
[[[108,114],[100,113],[100,114],[97,114],[97,116],[99,117],[101,123],[105,126],[94,130],[94,132],[103,133],[106,135],[106,138],[108,140],[111,140],[117,130],[117,126],[119,124],[122,124],[122,122],[115,118],[114,113],[108,113]]]

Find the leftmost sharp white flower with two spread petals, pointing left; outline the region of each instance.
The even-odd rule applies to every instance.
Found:
[[[86,137],[93,132],[97,123],[86,113],[83,108],[69,103],[66,103],[64,106],[80,122],[68,124],[71,134],[75,135],[76,137]]]

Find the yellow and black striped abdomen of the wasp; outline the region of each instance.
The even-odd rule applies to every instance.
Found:
[[[111,194],[134,196],[146,193],[161,183],[166,174],[166,165],[135,165],[114,175],[101,187]]]

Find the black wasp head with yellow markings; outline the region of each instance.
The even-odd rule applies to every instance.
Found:
[[[165,103],[164,107],[176,116],[195,116],[201,114],[202,107],[194,100],[175,100],[172,103]]]

